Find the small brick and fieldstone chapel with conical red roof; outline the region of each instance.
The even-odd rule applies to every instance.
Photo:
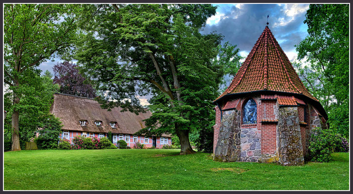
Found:
[[[328,127],[268,26],[214,104],[215,161],[302,165],[311,130]]]

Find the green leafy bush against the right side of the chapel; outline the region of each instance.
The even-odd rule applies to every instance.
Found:
[[[337,142],[337,136],[331,129],[313,129],[309,140],[309,157],[314,162],[329,162]]]

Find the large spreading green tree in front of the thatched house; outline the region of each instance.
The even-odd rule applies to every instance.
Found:
[[[216,7],[97,4],[84,5],[82,13],[75,58],[104,92],[102,107],[138,113],[144,109],[136,95],[152,94],[152,116],[140,132],[176,134],[181,154],[194,153],[189,132],[212,127],[212,101],[224,74],[213,63],[222,36],[199,32]]]

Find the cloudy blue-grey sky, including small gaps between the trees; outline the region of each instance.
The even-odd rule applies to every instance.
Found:
[[[303,23],[309,4],[213,4],[219,6],[215,16],[207,20],[202,33],[216,31],[224,35],[224,42],[237,45],[240,54],[246,57],[256,40],[264,31],[269,15],[269,29],[293,62],[297,58],[294,45],[307,36],[307,26]],[[47,61],[39,65],[52,73],[55,62]],[[141,104],[147,104],[148,97],[139,97]]]

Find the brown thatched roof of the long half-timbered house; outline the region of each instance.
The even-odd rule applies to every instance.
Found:
[[[145,127],[142,121],[151,116],[151,112],[131,113],[129,111],[120,112],[120,107],[113,108],[112,111],[101,109],[100,104],[87,97],[77,97],[67,94],[54,94],[54,102],[51,106],[51,113],[60,118],[65,130],[85,131],[94,133],[123,133],[134,134]],[[80,120],[86,120],[86,126],[80,125]],[[97,127],[95,121],[101,121],[101,126]],[[110,122],[116,122],[116,128],[112,128]],[[163,134],[164,137],[170,135]]]

